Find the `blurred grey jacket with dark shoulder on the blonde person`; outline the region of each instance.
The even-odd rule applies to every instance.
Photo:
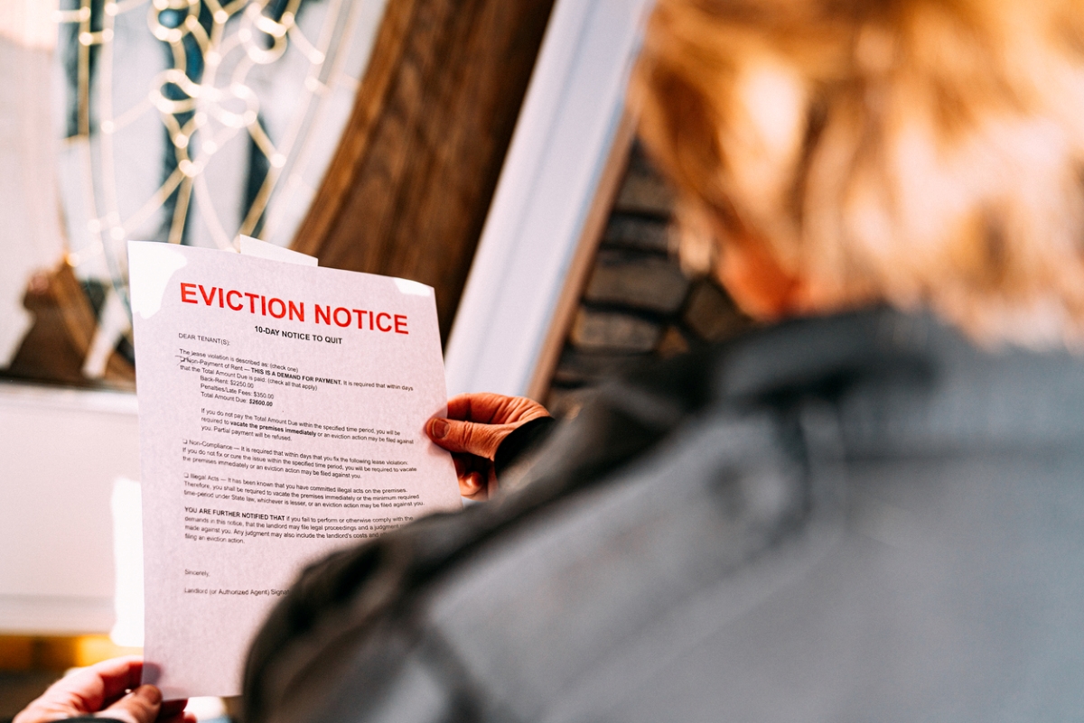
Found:
[[[499,499],[310,567],[246,723],[1084,718],[1079,357],[798,320],[527,447]]]

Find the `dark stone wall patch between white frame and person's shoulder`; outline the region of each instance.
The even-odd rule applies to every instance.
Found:
[[[554,415],[575,416],[593,390],[637,362],[749,325],[718,284],[682,273],[671,248],[673,200],[634,145],[551,383]]]

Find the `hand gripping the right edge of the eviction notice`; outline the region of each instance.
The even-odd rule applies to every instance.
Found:
[[[517,426],[549,417],[533,399],[501,394],[460,394],[448,400],[448,418],[434,417],[425,432],[452,452],[460,495],[472,500],[496,492],[493,458],[504,438]]]

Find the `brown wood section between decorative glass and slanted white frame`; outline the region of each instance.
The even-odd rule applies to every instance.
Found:
[[[553,0],[390,0],[293,248],[437,290],[447,339]]]

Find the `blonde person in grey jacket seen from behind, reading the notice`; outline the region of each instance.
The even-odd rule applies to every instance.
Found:
[[[631,97],[763,328],[453,399],[502,492],[308,570],[249,722],[1077,715],[1084,10],[660,0]]]

